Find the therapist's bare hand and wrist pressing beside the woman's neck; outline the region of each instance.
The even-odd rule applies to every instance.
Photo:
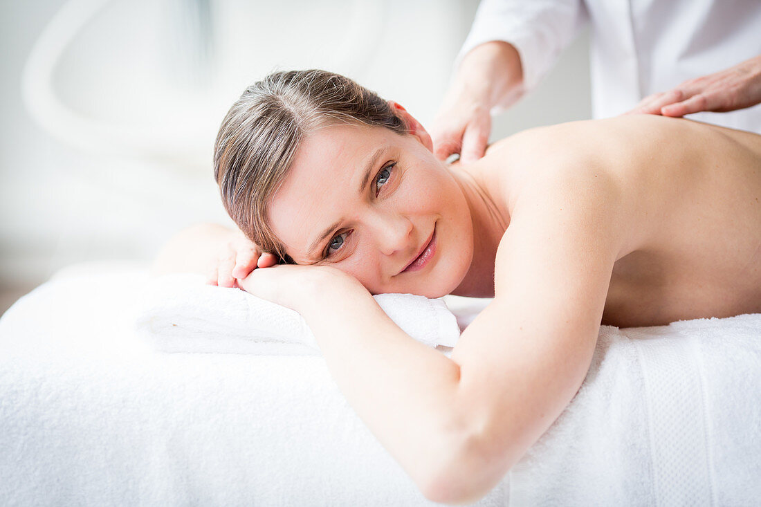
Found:
[[[431,127],[434,153],[445,160],[460,153],[467,163],[481,158],[489,142],[489,111],[508,107],[523,93],[521,56],[512,44],[493,40],[473,48],[460,62]]]

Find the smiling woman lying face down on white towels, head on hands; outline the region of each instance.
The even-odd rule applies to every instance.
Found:
[[[189,229],[158,272],[214,264],[211,283],[298,311],[349,403],[437,502],[486,495],[540,438],[600,324],[761,312],[750,132],[621,116],[445,164],[399,104],[330,72],[278,72],[224,118],[215,177],[240,231]],[[384,314],[371,296],[387,292],[494,300],[447,358]]]

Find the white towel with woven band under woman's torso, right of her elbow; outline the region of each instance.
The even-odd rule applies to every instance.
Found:
[[[603,326],[510,505],[758,505],[761,314]]]

